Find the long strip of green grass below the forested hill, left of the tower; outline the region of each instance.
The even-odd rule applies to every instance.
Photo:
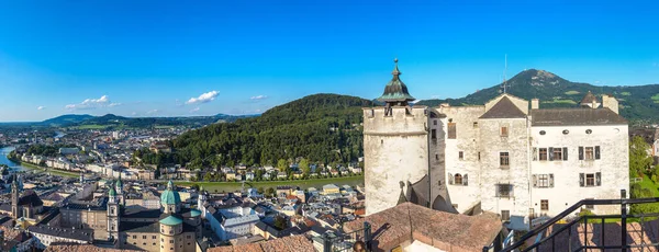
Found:
[[[237,191],[241,190],[241,183],[239,182],[175,182],[175,184],[177,185],[181,185],[181,186],[191,186],[193,184],[198,184],[200,186],[203,186],[203,188],[208,190],[209,192],[233,192],[233,191]],[[292,185],[292,186],[300,186],[300,188],[305,190],[308,187],[315,187],[315,188],[322,188],[323,185],[326,184],[336,184],[338,186],[342,185],[362,185],[364,184],[364,176],[346,176],[346,177],[332,177],[332,179],[316,179],[316,180],[300,180],[300,181],[261,181],[261,182],[249,182],[249,183],[245,183],[245,187],[254,187],[254,188],[259,188],[259,187],[264,187],[264,190],[267,190],[268,187],[272,187],[276,188],[277,186],[280,185]]]

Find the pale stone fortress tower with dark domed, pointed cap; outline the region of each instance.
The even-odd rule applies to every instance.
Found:
[[[400,79],[398,60],[394,64],[393,78],[378,99],[384,106],[364,108],[367,215],[405,201],[434,205],[445,184],[440,115],[426,106],[410,106],[414,98]]]

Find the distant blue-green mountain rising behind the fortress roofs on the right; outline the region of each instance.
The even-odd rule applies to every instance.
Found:
[[[633,124],[659,123],[659,84],[634,87],[599,87],[572,82],[544,70],[529,69],[517,73],[506,82],[506,92],[530,100],[537,98],[543,107],[573,107],[591,91],[599,99],[602,94],[613,94],[619,102],[621,115]],[[424,100],[417,105],[437,106],[449,103],[451,106],[484,104],[502,92],[502,84],[479,90],[460,99]]]

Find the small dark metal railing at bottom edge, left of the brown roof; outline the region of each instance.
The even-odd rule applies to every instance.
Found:
[[[360,242],[362,251],[371,251],[370,240],[372,238],[371,225],[364,222],[364,228],[347,233],[331,236],[323,233],[323,252],[343,252],[353,251],[355,243]]]

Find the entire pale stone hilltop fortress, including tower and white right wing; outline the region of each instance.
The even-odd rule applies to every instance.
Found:
[[[410,106],[399,76],[396,65],[384,106],[364,108],[367,215],[412,202],[495,213],[509,228],[528,229],[583,198],[628,192],[628,125],[615,98],[589,92],[573,108],[540,108],[537,99],[529,108],[507,93],[483,105]]]

